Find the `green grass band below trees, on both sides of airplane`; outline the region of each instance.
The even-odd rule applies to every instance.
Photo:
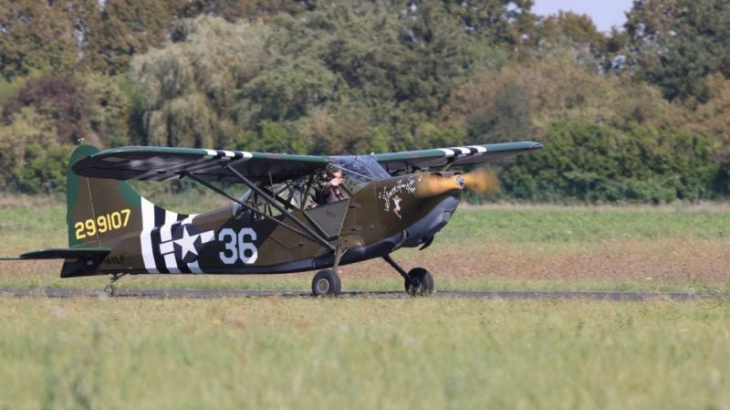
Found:
[[[162,201],[173,209],[220,206],[208,198],[201,206],[184,197]],[[207,201],[207,202],[206,202]],[[195,204],[195,206],[193,205]],[[5,249],[65,246],[66,208],[57,202],[38,206],[0,206],[0,238]],[[463,206],[438,236],[439,243],[585,243],[636,239],[708,239],[730,241],[730,207],[540,207]],[[43,244],[53,245],[43,245]]]

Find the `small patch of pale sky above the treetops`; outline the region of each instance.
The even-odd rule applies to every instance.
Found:
[[[623,26],[625,13],[633,3],[633,0],[535,0],[532,12],[543,16],[557,14],[559,10],[587,14],[599,31],[608,32],[613,26]]]

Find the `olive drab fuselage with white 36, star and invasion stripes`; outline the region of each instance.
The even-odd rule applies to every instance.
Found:
[[[138,206],[107,201],[110,207],[96,209],[94,218],[76,218],[71,212],[69,225],[79,231],[70,234],[83,244],[111,249],[98,273],[260,274],[321,269],[334,264],[335,252],[304,234],[292,218],[340,248],[343,265],[385,256],[404,245],[418,246],[445,225],[460,195],[454,191],[419,198],[416,182],[423,175],[371,180],[350,191],[349,198],[329,204],[317,204],[312,196],[308,204],[299,198],[292,205],[291,197],[282,200],[278,195],[277,200],[288,205],[286,213],[276,212],[265,202],[256,204],[251,195],[241,201],[254,210],[234,202],[197,215],[164,210],[145,198],[139,199]],[[446,208],[440,209],[445,202]],[[428,218],[435,221],[429,223]],[[424,226],[421,231],[409,230],[419,223]],[[125,233],[117,235],[121,229]]]

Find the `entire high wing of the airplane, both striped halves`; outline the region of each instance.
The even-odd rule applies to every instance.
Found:
[[[533,141],[470,145],[418,151],[376,154],[389,173],[405,169],[472,165],[542,148]],[[204,181],[240,183],[235,174],[257,181],[280,182],[324,168],[327,156],[268,154],[247,151],[169,147],[112,148],[76,162],[80,176],[116,180],[165,181],[188,175]],[[233,172],[231,169],[235,170]]]

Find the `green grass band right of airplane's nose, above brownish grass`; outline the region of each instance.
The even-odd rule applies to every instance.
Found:
[[[440,240],[585,243],[636,239],[730,240],[730,208],[465,207]]]

